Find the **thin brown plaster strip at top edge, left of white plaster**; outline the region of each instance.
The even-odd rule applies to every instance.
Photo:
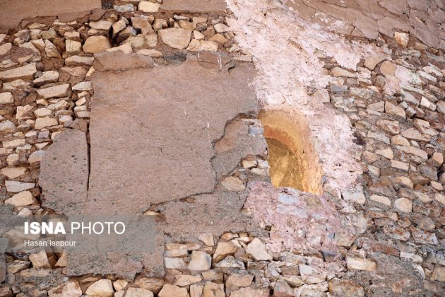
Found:
[[[160,9],[165,11],[204,13],[225,12],[225,0],[164,0]]]

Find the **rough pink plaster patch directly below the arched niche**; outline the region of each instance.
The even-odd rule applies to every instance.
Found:
[[[334,233],[341,228],[336,208],[324,197],[268,182],[249,182],[244,208],[260,224],[272,226],[272,252],[307,249],[336,251]]]

